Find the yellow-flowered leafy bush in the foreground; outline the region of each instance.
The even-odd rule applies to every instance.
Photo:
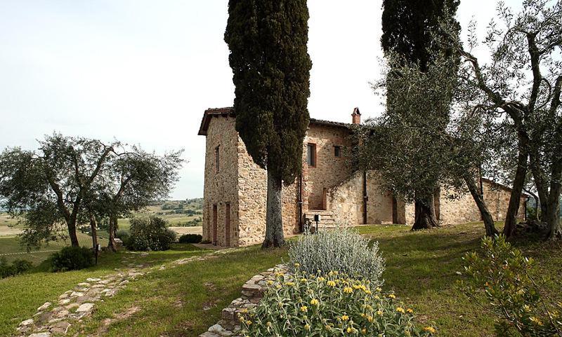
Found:
[[[244,336],[431,336],[414,311],[368,280],[330,272],[277,274],[258,305],[239,316]]]

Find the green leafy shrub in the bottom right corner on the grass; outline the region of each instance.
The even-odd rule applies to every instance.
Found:
[[[559,336],[562,304],[541,299],[542,286],[531,275],[534,261],[512,248],[503,235],[484,238],[482,252],[467,253],[464,262],[469,277],[460,287],[497,317],[497,336]]]

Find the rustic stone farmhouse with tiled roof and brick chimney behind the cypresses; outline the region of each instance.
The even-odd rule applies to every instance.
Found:
[[[303,170],[294,184],[283,186],[282,216],[285,235],[301,233],[306,219],[320,215],[320,226],[336,224],[412,223],[413,205],[394,198],[381,187],[377,172],[354,171],[346,156],[351,148],[351,126],[360,124],[311,118],[303,142]],[[263,240],[266,231],[267,172],[256,165],[235,130],[232,108],[204,111],[199,135],[207,138],[204,170],[203,239],[235,247]],[[436,195],[440,223],[480,221],[471,195],[450,200],[441,188]],[[510,189],[481,179],[481,191],[494,219],[507,211]],[[526,195],[518,214],[525,216]]]

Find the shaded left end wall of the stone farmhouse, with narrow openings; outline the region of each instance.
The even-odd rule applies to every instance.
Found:
[[[203,205],[203,240],[213,241],[213,205],[216,205],[217,240],[216,244],[238,245],[238,135],[234,127],[235,119],[217,116],[211,118],[207,133],[205,151],[205,181]],[[218,146],[219,170],[216,171],[215,149]],[[230,233],[226,229],[226,209],[230,204]],[[230,236],[227,242],[226,236]]]

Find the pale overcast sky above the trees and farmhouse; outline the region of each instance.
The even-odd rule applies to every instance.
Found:
[[[521,0],[506,1],[519,6]],[[203,195],[204,109],[231,106],[226,0],[0,0],[0,150],[53,131],[162,153],[185,149],[171,198]],[[350,122],[381,105],[381,0],[309,0],[311,117]],[[495,1],[462,0],[481,34]]]

